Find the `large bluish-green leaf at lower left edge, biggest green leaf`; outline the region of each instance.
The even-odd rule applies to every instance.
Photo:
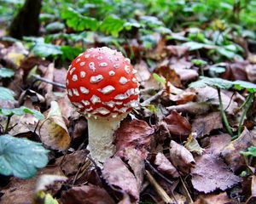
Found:
[[[48,163],[48,150],[42,144],[8,134],[0,136],[0,173],[31,178]]]

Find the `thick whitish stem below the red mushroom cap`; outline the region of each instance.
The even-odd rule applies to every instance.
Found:
[[[96,163],[102,167],[110,156],[115,153],[113,145],[113,133],[119,127],[119,121],[102,121],[92,117],[87,119],[89,128],[89,144],[87,149],[90,150],[90,156]]]

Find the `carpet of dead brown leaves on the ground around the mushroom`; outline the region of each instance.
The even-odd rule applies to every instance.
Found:
[[[76,11],[72,14],[79,16]],[[67,26],[78,29],[72,20]],[[67,32],[73,31],[70,29]],[[202,31],[196,30],[197,37],[201,37]],[[122,35],[121,30],[106,32]],[[47,50],[48,56],[44,52],[40,56],[39,47],[32,53],[24,41],[0,39],[0,67],[14,73],[3,73],[0,78],[1,109],[25,105],[46,117],[38,122],[33,115],[11,116],[9,134],[42,142],[50,151],[49,165],[33,178],[22,180],[1,175],[1,179],[8,180],[0,187],[1,203],[32,203],[33,197],[39,196],[38,192],[34,193],[37,182],[44,184],[40,190],[45,196],[49,194],[63,204],[163,203],[168,199],[171,203],[253,203],[255,158],[241,152],[256,146],[254,111],[247,113],[241,135],[232,139],[226,134],[220,114],[218,90],[214,86],[189,88],[189,83],[200,83],[201,75],[255,82],[255,55],[247,50],[247,58],[232,59],[229,56],[239,54],[238,51],[232,53],[226,45],[221,48],[214,44],[207,32],[199,42],[192,41],[195,29],[191,28],[168,35],[154,32],[148,34],[151,38],[145,42],[137,36],[127,40],[130,44],[114,41],[114,46],[131,57],[137,70],[141,106],[114,133],[116,152],[102,169],[95,167],[86,150],[86,119],[74,111],[63,87],[49,83],[65,84],[68,61],[57,58],[62,52],[59,45],[66,42],[60,37],[53,41],[56,44],[41,43],[41,48],[48,46],[56,55]],[[104,39],[91,35],[90,40],[85,39],[86,48],[111,45]],[[144,47],[150,43],[154,45],[152,48]],[[73,46],[81,44],[84,46],[84,42]],[[206,64],[199,65],[196,60]],[[43,80],[35,80],[33,75]],[[222,80],[218,86],[227,88]],[[236,133],[250,89],[228,89],[221,90],[221,97],[232,131]],[[2,114],[0,118],[1,134],[5,131],[6,117]],[[148,179],[148,173],[153,180]],[[45,182],[41,182],[42,178]]]

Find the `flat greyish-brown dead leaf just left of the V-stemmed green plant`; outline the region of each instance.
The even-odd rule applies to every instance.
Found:
[[[209,135],[212,130],[222,127],[220,112],[212,112],[195,117],[192,123],[192,132],[197,134],[197,138],[202,138],[205,135]]]

